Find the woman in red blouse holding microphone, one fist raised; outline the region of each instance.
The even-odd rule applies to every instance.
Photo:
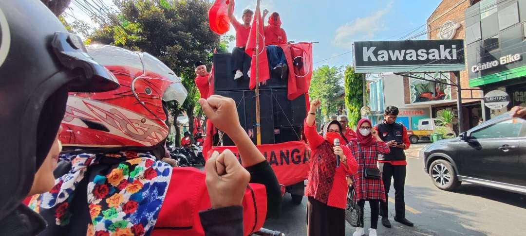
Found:
[[[347,205],[346,174],[353,175],[358,169],[349,148],[334,146],[333,141],[341,137],[340,123],[329,122],[323,128],[323,136],[314,126],[319,100],[310,103],[305,121],[305,137],[311,149],[310,171],[305,195],[307,204],[307,235],[345,235],[345,207]],[[337,157],[338,156],[338,157]],[[337,166],[337,158],[339,166]]]

